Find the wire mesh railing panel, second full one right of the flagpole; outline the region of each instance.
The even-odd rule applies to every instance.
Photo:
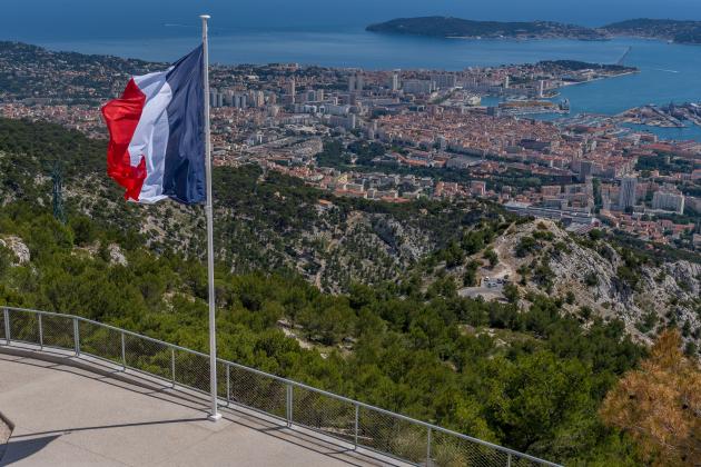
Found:
[[[293,388],[293,420],[344,440],[355,438],[355,405],[314,390]]]

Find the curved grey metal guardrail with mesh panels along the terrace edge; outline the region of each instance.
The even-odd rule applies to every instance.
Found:
[[[13,341],[87,355],[209,394],[209,356],[73,315],[3,307],[0,345]],[[300,382],[217,359],[217,393],[225,405],[273,416],[288,427],[324,436],[417,466],[560,467]]]

